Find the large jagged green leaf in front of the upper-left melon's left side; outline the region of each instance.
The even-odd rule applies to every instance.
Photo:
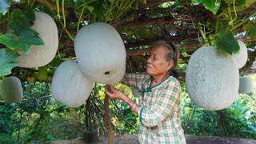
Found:
[[[0,35],[0,42],[12,50],[18,49],[28,54],[31,45],[39,46],[44,44],[36,31],[12,23],[8,26],[14,31],[12,34]]]

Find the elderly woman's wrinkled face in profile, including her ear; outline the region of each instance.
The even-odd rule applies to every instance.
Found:
[[[152,76],[166,74],[174,65],[173,61],[166,62],[166,54],[169,50],[165,46],[154,46],[150,50],[150,56],[147,59],[146,73]]]

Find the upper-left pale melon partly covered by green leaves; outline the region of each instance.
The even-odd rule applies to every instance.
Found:
[[[19,67],[40,67],[50,63],[58,49],[58,28],[54,19],[50,15],[42,12],[34,12],[35,21],[31,28],[38,32],[39,37],[42,38],[44,45],[30,46],[30,53],[21,54],[15,59],[19,62]]]

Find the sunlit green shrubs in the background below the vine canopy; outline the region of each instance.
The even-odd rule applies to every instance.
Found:
[[[250,78],[256,82],[255,74]],[[182,127],[186,134],[256,139],[255,90],[251,94],[239,94],[227,109],[213,111],[194,106],[186,93],[184,80],[181,83]],[[78,108],[69,108],[49,97],[50,84],[47,82],[23,82],[22,86],[26,100],[13,104],[0,102],[0,143],[82,138],[89,125],[98,128],[100,135],[106,135],[102,84],[94,86],[90,95],[90,118],[86,103]],[[138,102],[138,98],[131,95],[130,88],[122,84],[116,87]],[[138,133],[138,117],[124,102],[110,102],[110,118],[115,135]]]

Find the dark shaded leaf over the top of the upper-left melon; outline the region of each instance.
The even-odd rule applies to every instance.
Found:
[[[10,14],[11,23],[27,28],[34,25],[34,19],[34,11],[29,9],[26,10],[25,13],[22,13],[21,10],[16,9],[12,12],[12,14]]]

